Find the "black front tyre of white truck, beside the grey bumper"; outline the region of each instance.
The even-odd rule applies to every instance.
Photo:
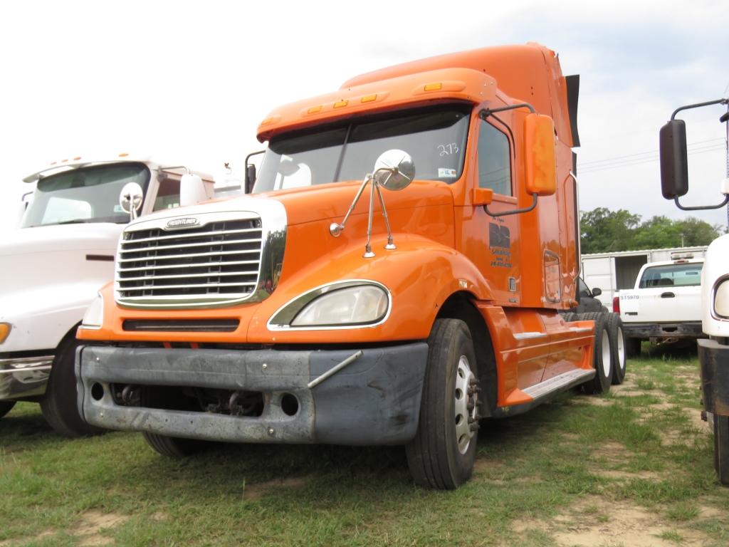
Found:
[[[89,425],[79,415],[76,391],[76,338],[66,338],[58,345],[58,352],[50,369],[41,411],[46,422],[59,435],[74,438],[94,435],[102,430]]]

